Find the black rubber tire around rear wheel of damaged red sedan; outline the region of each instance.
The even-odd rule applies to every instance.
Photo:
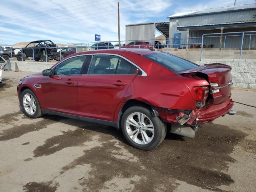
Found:
[[[126,131],[126,120],[128,116],[130,116],[130,114],[135,112],[145,114],[151,120],[154,126],[154,137],[148,144],[138,144],[128,136],[128,133]],[[144,106],[132,106],[128,108],[122,116],[121,127],[124,137],[129,142],[129,144],[134,148],[138,148],[141,150],[152,150],[153,148],[157,147],[164,140],[167,132],[166,124],[162,122],[162,120],[158,116],[154,117],[152,115],[152,112]]]

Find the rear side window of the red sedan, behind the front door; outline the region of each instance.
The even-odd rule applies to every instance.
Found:
[[[135,75],[137,67],[127,60],[114,55],[94,55],[88,74]]]

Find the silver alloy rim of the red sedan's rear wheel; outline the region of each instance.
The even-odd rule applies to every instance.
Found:
[[[132,113],[126,119],[126,132],[137,144],[146,145],[154,138],[154,125],[143,113]]]

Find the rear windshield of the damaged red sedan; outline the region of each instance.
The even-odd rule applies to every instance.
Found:
[[[164,66],[165,68],[173,72],[181,72],[199,66],[197,64],[194,64],[192,62],[189,62],[187,60],[184,60],[182,58],[176,57],[168,53],[154,53],[144,55],[144,57]]]

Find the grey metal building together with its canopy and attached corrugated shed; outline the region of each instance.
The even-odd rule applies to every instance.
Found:
[[[126,25],[126,43],[133,40],[152,40],[154,43],[155,30],[158,30],[168,44],[195,44],[202,42],[202,35],[221,32],[256,31],[256,4],[236,5],[229,7],[211,8],[189,12],[180,12],[167,17],[169,22],[151,22],[144,24]],[[221,40],[220,40],[221,39]],[[222,43],[225,39],[225,45]],[[241,35],[220,37],[206,37],[206,47],[239,48]],[[174,45],[180,48],[182,45]],[[186,46],[186,45],[184,45]],[[184,47],[183,46],[183,47]],[[256,48],[256,34],[244,36],[243,48]]]

